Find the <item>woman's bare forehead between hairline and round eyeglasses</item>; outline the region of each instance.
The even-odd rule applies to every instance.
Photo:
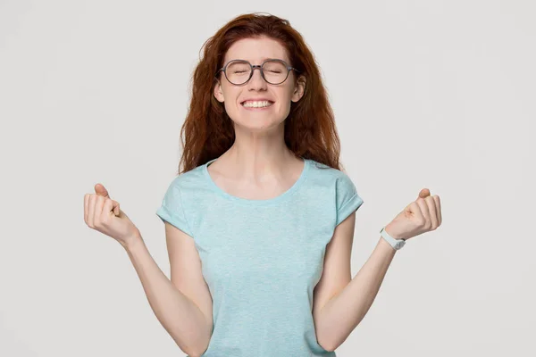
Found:
[[[289,56],[285,47],[269,37],[239,39],[229,47],[223,62],[246,60],[252,64],[260,64],[267,58],[278,58],[289,62]]]

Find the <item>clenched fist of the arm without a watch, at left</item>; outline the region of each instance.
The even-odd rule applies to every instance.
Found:
[[[95,194],[84,195],[84,220],[89,228],[113,237],[125,248],[141,238],[138,228],[101,184],[95,185]]]

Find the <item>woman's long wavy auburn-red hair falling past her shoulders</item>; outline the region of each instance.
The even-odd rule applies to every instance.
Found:
[[[291,103],[285,120],[286,145],[297,156],[342,170],[339,135],[314,55],[289,21],[255,12],[229,21],[201,47],[204,53],[200,55],[191,78],[188,115],[180,129],[182,155],[179,174],[230,149],[235,132],[224,104],[214,97],[216,72],[222,68],[223,58],[233,43],[242,38],[263,36],[279,41],[289,54],[290,65],[306,77],[304,95],[297,103]],[[219,75],[222,76],[222,73]]]

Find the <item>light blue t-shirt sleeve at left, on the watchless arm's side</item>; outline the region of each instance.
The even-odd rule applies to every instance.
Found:
[[[174,179],[163,195],[161,206],[156,210],[156,215],[161,220],[167,221],[176,228],[193,237],[184,213],[184,201],[180,195],[178,179]]]

